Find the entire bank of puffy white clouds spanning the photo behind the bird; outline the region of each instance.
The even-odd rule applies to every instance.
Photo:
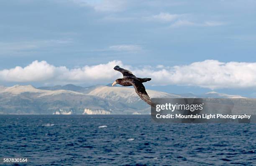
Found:
[[[256,63],[205,60],[180,66],[136,68],[114,60],[106,64],[68,69],[46,61],[34,61],[26,67],[0,70],[0,82],[42,82],[48,84],[107,84],[122,77],[115,65],[130,69],[137,77],[151,77],[151,85],[183,85],[209,89],[256,87]]]

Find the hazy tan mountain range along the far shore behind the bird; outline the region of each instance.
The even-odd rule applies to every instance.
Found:
[[[238,95],[169,94],[148,90],[151,98],[243,98]],[[0,114],[149,114],[150,107],[129,87],[73,84],[54,87],[0,86]]]

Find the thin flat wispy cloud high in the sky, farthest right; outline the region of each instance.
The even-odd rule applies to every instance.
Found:
[[[177,20],[174,22],[171,27],[187,27],[187,26],[198,26],[198,27],[215,27],[224,25],[223,22],[215,22],[215,21],[206,21],[202,23],[191,22],[188,20]]]

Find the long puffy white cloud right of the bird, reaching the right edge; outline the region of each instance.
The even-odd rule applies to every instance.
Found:
[[[205,60],[184,66],[134,71],[154,84],[179,84],[210,89],[256,87],[256,63]]]

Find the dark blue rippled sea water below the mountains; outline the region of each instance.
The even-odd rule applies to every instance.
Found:
[[[256,166],[256,124],[156,124],[150,118],[1,115],[0,165]],[[3,164],[17,157],[28,163]]]

